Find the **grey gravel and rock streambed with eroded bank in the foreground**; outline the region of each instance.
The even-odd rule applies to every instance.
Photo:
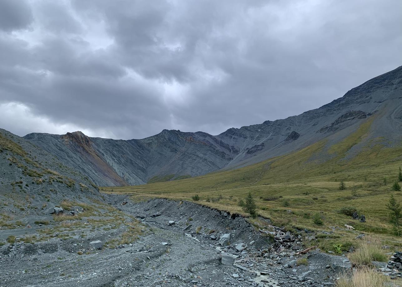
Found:
[[[64,238],[35,243],[16,238],[0,247],[0,286],[333,286],[351,268],[346,257],[307,252],[301,237],[269,221],[258,231],[244,217],[194,203],[109,199],[141,220],[139,239],[111,246],[119,228],[70,228]],[[68,216],[70,226],[79,221]],[[0,238],[10,232],[0,230]]]

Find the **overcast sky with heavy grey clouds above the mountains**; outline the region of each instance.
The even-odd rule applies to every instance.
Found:
[[[402,65],[400,0],[0,0],[0,127],[114,139],[318,108]]]

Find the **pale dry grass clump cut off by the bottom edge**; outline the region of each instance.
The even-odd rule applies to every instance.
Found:
[[[336,287],[384,287],[389,278],[369,268],[357,268],[353,273],[343,273],[336,281]]]

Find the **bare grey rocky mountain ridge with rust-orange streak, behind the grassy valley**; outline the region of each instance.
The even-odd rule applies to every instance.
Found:
[[[353,88],[342,98],[301,115],[231,128],[220,135],[163,130],[145,139],[91,138],[32,133],[32,141],[98,185],[144,184],[233,169],[280,156],[328,139],[327,148],[366,119],[369,136],[353,146],[352,156],[373,140],[393,145],[402,135],[402,66]],[[323,154],[323,157],[327,155]],[[320,156],[318,156],[320,157]]]

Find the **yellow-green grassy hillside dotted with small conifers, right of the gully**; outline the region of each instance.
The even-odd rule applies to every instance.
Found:
[[[402,193],[392,191],[392,183],[402,166],[402,144],[385,147],[379,138],[359,154],[351,154],[353,146],[369,133],[371,122],[372,119],[366,121],[338,143],[322,140],[297,152],[237,170],[102,190],[127,193],[134,199],[192,200],[197,194],[199,203],[234,213],[242,213],[238,201],[251,192],[260,215],[287,229],[317,231],[314,243],[327,251],[335,243],[343,244],[343,249],[348,250],[359,233],[377,234],[383,244],[402,246],[401,238],[392,234],[386,209],[391,194],[402,201]],[[345,182],[346,190],[339,190],[340,181]],[[367,222],[360,223],[340,212],[349,207],[364,214]],[[314,216],[319,216],[323,224],[315,224]],[[356,230],[345,231],[345,223]],[[322,230],[331,234],[320,233]]]

